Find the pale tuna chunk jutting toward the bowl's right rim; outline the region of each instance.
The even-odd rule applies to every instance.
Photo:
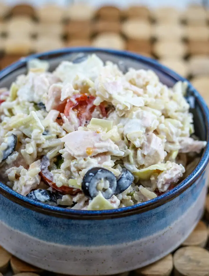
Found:
[[[200,153],[201,149],[206,146],[206,141],[198,141],[194,140],[191,137],[180,137],[179,138],[179,145],[180,149],[179,152],[182,153],[189,153],[189,152],[197,152]]]

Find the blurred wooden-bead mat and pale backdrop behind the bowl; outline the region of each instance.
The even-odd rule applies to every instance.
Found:
[[[128,50],[190,79],[209,104],[208,2],[0,0],[0,69],[63,47]]]

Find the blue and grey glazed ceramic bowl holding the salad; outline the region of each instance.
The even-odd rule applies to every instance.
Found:
[[[0,72],[0,87],[26,72],[26,62],[41,58],[53,70],[75,53],[96,53],[102,60],[124,61],[128,67],[152,69],[173,86],[184,78],[158,62],[133,53],[73,48],[22,58]],[[188,86],[196,135],[208,141],[209,110]],[[0,183],[0,244],[18,258],[40,268],[71,275],[109,275],[150,264],[177,248],[203,213],[209,158],[207,144],[192,173],[167,193],[134,206],[80,211],[44,205]]]

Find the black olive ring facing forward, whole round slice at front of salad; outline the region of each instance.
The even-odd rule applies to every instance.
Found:
[[[94,198],[101,191],[104,198],[109,199],[115,193],[116,177],[107,169],[92,168],[84,175],[82,191],[88,198]]]

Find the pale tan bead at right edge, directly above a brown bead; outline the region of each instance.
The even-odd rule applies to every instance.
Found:
[[[209,28],[207,26],[185,26],[185,37],[189,41],[208,41]]]

